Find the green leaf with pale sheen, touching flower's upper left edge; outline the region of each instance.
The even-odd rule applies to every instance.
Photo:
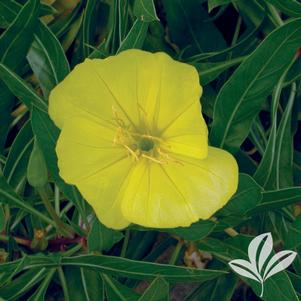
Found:
[[[42,22],[39,22],[36,28],[27,60],[46,98],[70,71],[60,42]]]

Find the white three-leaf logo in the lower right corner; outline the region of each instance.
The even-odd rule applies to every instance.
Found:
[[[260,248],[260,246],[262,247]],[[234,259],[229,262],[229,266],[234,272],[261,284],[260,297],[263,296],[265,280],[285,270],[294,261],[297,255],[294,251],[285,250],[276,253],[270,261],[267,262],[272,251],[272,235],[271,233],[264,233],[256,236],[250,242],[248,248],[249,261]]]

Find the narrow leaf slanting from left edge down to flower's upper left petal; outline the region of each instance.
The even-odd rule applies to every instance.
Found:
[[[28,108],[35,105],[41,110],[47,111],[47,105],[44,100],[20,76],[1,63],[0,79]]]

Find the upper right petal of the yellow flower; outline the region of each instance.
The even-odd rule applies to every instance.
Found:
[[[157,81],[153,80],[150,86],[148,77],[141,76],[143,73],[139,69],[139,86],[149,86],[153,94],[146,102],[142,97],[138,98],[147,112],[145,117],[149,119],[154,135],[164,138],[172,152],[205,158],[208,132],[201,113],[202,88],[196,69],[162,52],[155,53],[150,59],[146,70],[149,72],[152,68],[153,73],[157,73]],[[140,64],[146,65],[147,61]]]

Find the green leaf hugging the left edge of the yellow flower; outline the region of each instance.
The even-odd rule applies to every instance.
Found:
[[[59,129],[50,120],[47,113],[38,109],[32,108],[31,124],[33,132],[41,148],[47,168],[52,175],[55,183],[59,189],[81,210],[81,196],[77,192],[76,188],[72,185],[68,185],[59,176],[59,170],[57,166],[57,155],[55,152],[56,141],[59,136]]]

